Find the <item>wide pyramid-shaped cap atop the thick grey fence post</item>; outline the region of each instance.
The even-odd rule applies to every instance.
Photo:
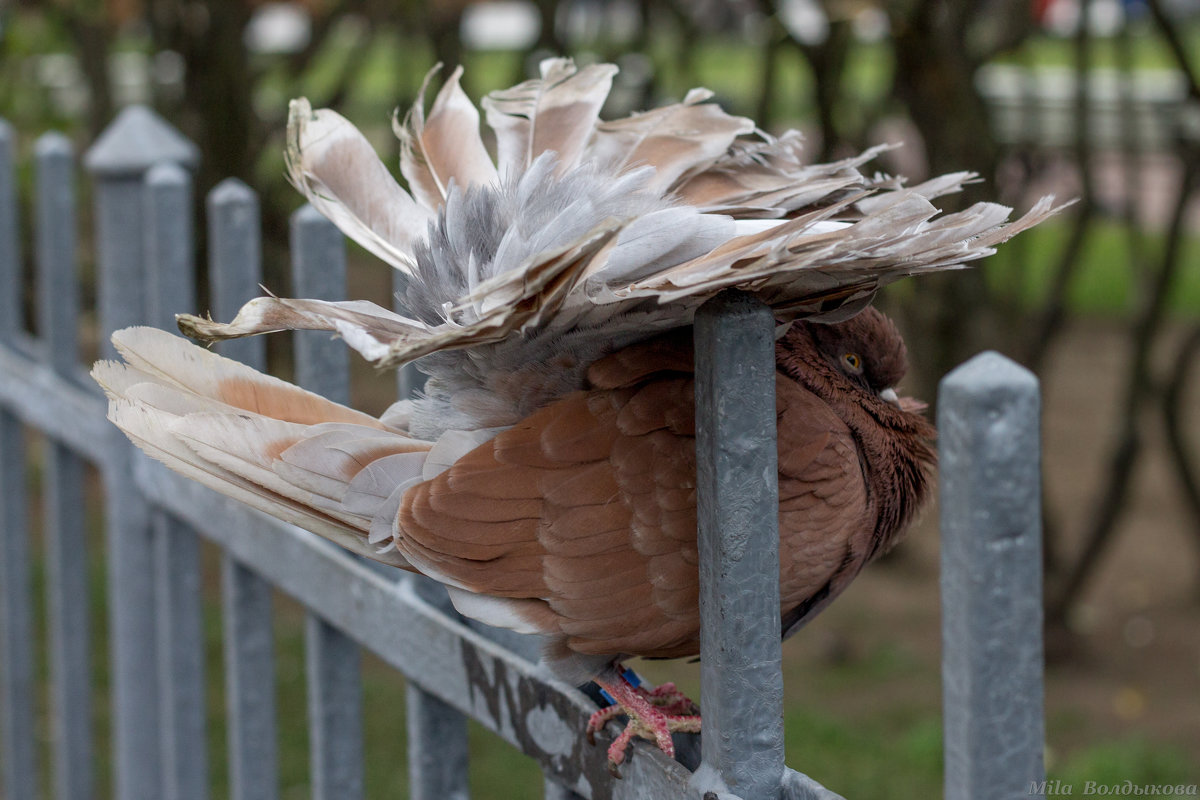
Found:
[[[121,109],[83,163],[95,176],[137,176],[155,164],[174,162],[196,169],[200,150],[182,133],[145,106]]]

